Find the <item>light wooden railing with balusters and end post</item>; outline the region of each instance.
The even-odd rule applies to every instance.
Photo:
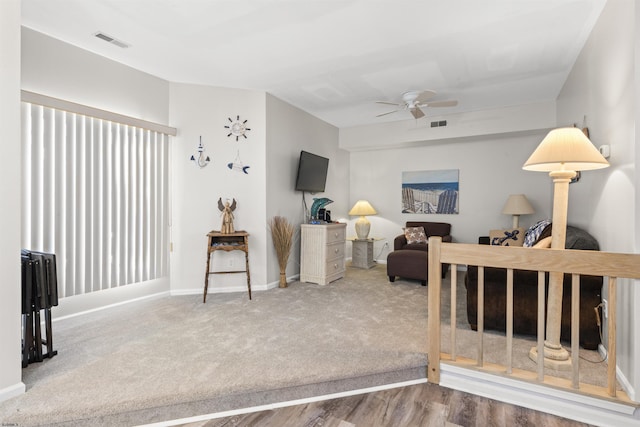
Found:
[[[441,264],[451,264],[451,353],[441,352]],[[478,266],[478,317],[477,359],[458,357],[456,354],[456,286],[457,265]],[[483,360],[484,335],[484,268],[507,269],[507,318],[506,318],[506,365],[485,364]],[[538,336],[537,372],[514,369],[513,354],[513,271],[532,270],[538,272]],[[545,272],[561,272],[572,275],[571,311],[571,380],[545,375],[543,363]],[[580,275],[608,278],[609,322],[607,342],[607,387],[583,384],[579,381],[579,295]],[[442,243],[440,237],[429,238],[429,284],[428,284],[428,370],[429,382],[440,383],[440,364],[455,364],[469,369],[480,369],[490,373],[507,375],[514,379],[536,381],[543,385],[562,388],[632,405],[626,393],[616,391],[616,299],[617,279],[640,279],[640,255],[598,251],[533,249],[509,246],[486,246],[462,243]],[[568,296],[567,296],[568,297]]]

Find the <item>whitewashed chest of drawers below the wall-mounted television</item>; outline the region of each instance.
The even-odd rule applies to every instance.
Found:
[[[326,285],[344,277],[346,224],[302,224],[300,281]]]

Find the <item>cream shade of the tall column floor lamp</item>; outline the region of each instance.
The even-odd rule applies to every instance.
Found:
[[[609,162],[578,128],[558,128],[547,134],[522,169],[537,172],[602,169]]]

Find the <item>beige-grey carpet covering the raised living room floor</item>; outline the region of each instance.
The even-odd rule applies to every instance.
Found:
[[[167,296],[54,322],[58,355],[23,370],[27,392],[0,403],[0,421],[137,425],[424,378],[427,287],[385,272],[349,267],[327,286],[293,282],[252,301]],[[459,276],[457,348],[474,357]],[[485,360],[500,362],[504,337],[486,336]],[[443,351],[447,337],[444,328]],[[515,341],[525,355],[533,343]],[[582,364],[581,375],[606,372]],[[535,370],[526,357],[514,365]]]

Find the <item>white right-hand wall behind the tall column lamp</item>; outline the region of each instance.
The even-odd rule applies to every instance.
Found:
[[[559,125],[582,124],[586,116],[594,145],[611,146],[611,166],[584,172],[569,195],[569,221],[588,229],[601,249],[611,252],[640,247],[635,7],[633,0],[607,2],[557,101]],[[637,283],[635,290],[630,285],[620,281],[618,286],[618,368],[638,398],[640,291]]]

